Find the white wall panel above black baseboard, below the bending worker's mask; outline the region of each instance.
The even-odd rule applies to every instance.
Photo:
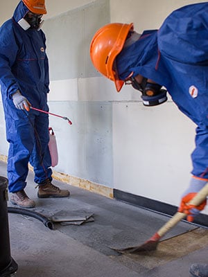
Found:
[[[115,103],[113,114],[116,188],[177,205],[190,178],[195,126],[172,102]]]

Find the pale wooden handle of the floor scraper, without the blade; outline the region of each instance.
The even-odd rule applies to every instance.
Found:
[[[207,198],[207,195],[208,195],[208,183],[197,193],[195,197],[193,197],[193,199],[191,199],[189,204],[198,206]],[[168,220],[168,222],[166,222],[166,224],[164,224],[164,226],[162,226],[157,231],[160,238],[162,238],[169,230],[171,230],[178,222],[180,222],[180,220],[183,220],[185,217],[187,217],[186,213],[179,213],[179,212],[175,213],[175,215],[173,215],[171,220]]]

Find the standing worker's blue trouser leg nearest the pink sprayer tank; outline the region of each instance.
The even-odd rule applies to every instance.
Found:
[[[49,116],[39,113],[35,116],[35,145],[30,163],[35,172],[35,183],[40,184],[47,178],[52,179],[51,155],[49,152]]]

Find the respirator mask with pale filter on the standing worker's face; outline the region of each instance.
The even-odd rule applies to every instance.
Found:
[[[33,12],[27,12],[24,18],[18,21],[18,24],[24,30],[28,30],[28,28],[40,30],[43,23],[44,20],[42,20],[42,15]]]

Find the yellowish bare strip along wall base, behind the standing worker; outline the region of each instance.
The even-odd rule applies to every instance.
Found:
[[[0,161],[7,163],[7,156],[0,154]],[[30,165],[29,165],[29,169],[33,171],[33,167]],[[79,188],[89,190],[92,193],[98,193],[99,195],[113,198],[113,189],[112,188],[108,188],[106,186],[102,186],[100,184],[93,183],[92,181],[88,181],[88,180],[81,179],[78,177],[73,177],[71,175],[57,172],[55,170],[53,170],[53,178],[58,181],[62,181],[64,183],[70,184],[71,186],[77,186]]]

